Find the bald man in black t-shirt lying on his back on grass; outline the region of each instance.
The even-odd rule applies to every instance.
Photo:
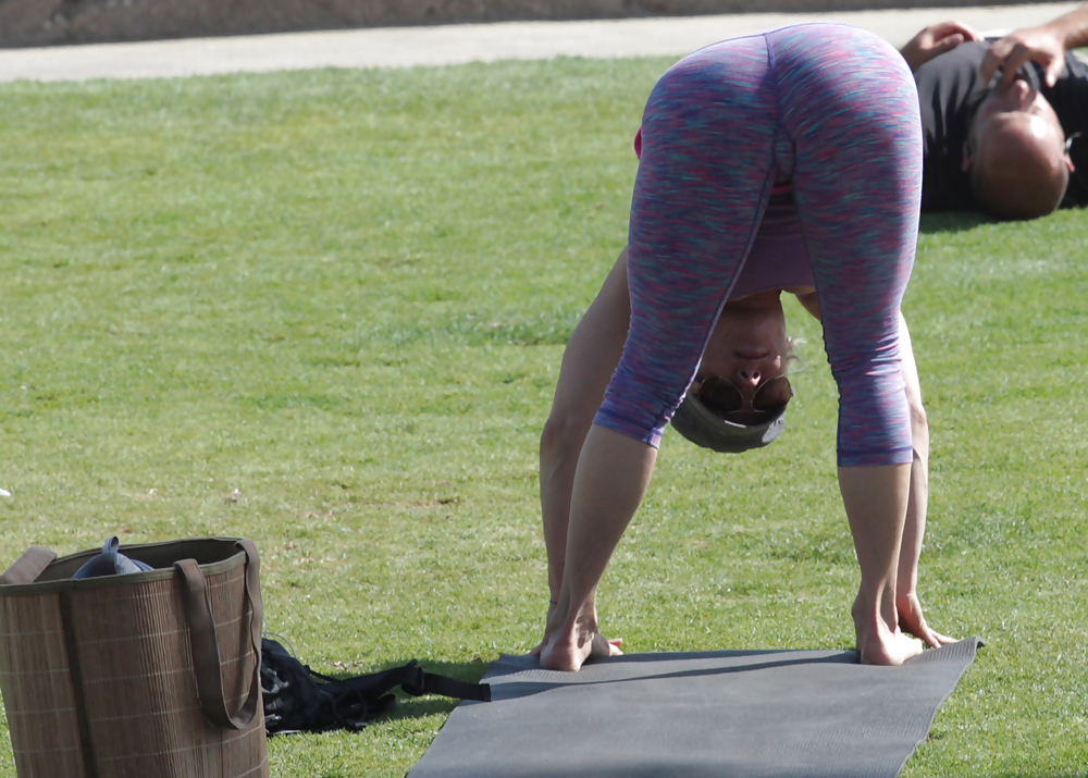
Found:
[[[1088,205],[1088,5],[991,44],[957,22],[903,47],[918,86],[924,211],[1034,219]]]

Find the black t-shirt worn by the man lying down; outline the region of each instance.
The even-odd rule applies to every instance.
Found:
[[[989,42],[962,44],[936,57],[914,74],[922,101],[925,163],[922,178],[924,211],[962,211],[975,208],[970,180],[961,170],[963,145],[979,103],[990,87],[982,84],[978,67]],[[1063,208],[1088,205],[1088,64],[1073,52],[1065,54],[1066,69],[1053,87],[1046,86],[1043,70],[1034,62],[1022,69],[1024,77],[1042,92],[1058,114],[1065,137],[1075,137],[1070,149],[1076,171]]]

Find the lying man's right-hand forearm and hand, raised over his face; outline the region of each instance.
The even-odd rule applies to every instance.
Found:
[[[1001,84],[1009,86],[1016,71],[1027,62],[1036,62],[1047,72],[1047,85],[1054,86],[1065,67],[1065,52],[1088,46],[1088,4],[1053,22],[1026,27],[1006,35],[990,46],[978,69],[984,83],[1001,70]]]

